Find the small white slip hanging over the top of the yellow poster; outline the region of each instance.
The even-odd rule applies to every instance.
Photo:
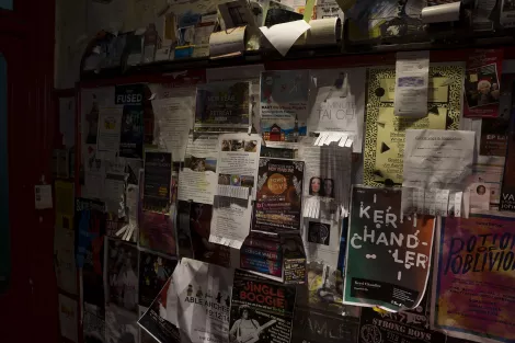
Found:
[[[397,53],[393,112],[399,116],[427,115],[430,52]],[[422,105],[421,105],[422,104]]]

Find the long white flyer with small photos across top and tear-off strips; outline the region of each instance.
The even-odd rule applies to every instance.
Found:
[[[249,235],[261,152],[261,136],[220,135],[218,184],[209,241],[240,249]]]

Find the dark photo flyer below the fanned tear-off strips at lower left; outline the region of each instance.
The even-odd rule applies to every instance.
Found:
[[[106,247],[106,304],[138,312],[138,249],[135,244],[108,239]]]

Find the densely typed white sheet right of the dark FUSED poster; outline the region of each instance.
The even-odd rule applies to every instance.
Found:
[[[154,142],[171,152],[175,162],[184,161],[187,136],[193,128],[195,100],[193,96],[152,100]]]

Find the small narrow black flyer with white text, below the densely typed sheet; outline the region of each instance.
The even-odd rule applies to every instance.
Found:
[[[145,151],[144,209],[168,213],[172,183],[172,155]]]

